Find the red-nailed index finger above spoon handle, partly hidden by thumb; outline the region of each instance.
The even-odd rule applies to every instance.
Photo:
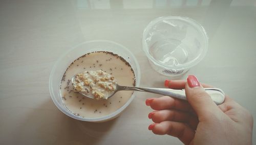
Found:
[[[171,89],[184,89],[186,81],[185,80],[165,80],[164,86]],[[201,83],[204,88],[212,88],[213,86]]]

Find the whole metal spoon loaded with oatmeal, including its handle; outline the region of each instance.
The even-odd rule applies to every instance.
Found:
[[[120,86],[112,75],[103,70],[80,72],[73,76],[71,81],[75,92],[96,100],[111,98],[117,91],[121,90],[151,92],[186,100],[185,90]],[[225,94],[223,90],[219,88],[205,88],[205,91],[217,105],[224,102]]]

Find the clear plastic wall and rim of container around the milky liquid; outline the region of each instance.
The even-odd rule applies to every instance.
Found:
[[[136,86],[138,87],[140,84],[140,67],[137,62],[137,59],[126,47],[116,42],[108,41],[108,40],[87,41],[75,46],[73,49],[63,54],[57,60],[57,62],[55,63],[51,71],[50,80],[49,80],[49,89],[50,89],[51,98],[54,104],[63,113],[65,113],[66,115],[72,118],[87,121],[87,122],[105,122],[107,120],[117,117],[132,102],[132,100],[135,98],[135,95],[136,95],[136,92],[134,92],[131,98],[121,108],[119,108],[115,112],[106,116],[101,116],[96,118],[87,118],[87,117],[76,116],[71,111],[68,110],[68,108],[65,106],[65,104],[61,100],[61,95],[59,90],[59,85],[60,85],[62,75],[64,74],[67,67],[75,59],[77,59],[78,57],[84,54],[97,52],[97,51],[112,52],[124,58],[127,62],[130,63],[130,65],[134,70],[134,74],[136,78]]]

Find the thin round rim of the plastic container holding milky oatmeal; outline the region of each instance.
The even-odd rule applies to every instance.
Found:
[[[136,59],[136,57],[133,55],[133,53],[127,49],[127,47],[117,43],[117,42],[114,42],[114,41],[110,41],[110,40],[103,40],[103,39],[96,39],[96,40],[89,40],[89,41],[84,41],[84,42],[81,42],[73,47],[71,47],[70,50],[66,51],[65,53],[63,53],[60,57],[58,57],[57,61],[55,62],[55,64],[53,65],[52,67],[52,70],[51,70],[51,73],[50,73],[50,77],[49,77],[49,91],[50,91],[50,95],[51,95],[51,98],[52,98],[52,101],[53,103],[55,104],[55,106],[57,106],[57,108],[65,113],[66,115],[72,117],[72,118],[75,118],[75,119],[78,119],[78,120],[82,120],[82,121],[87,121],[87,122],[101,122],[101,121],[104,121],[104,120],[109,120],[111,118],[114,118],[115,116],[117,116],[118,114],[120,114],[127,106],[129,106],[131,104],[131,102],[133,101],[133,99],[135,98],[135,94],[136,92],[134,92],[131,96],[131,98],[121,107],[119,108],[118,110],[108,114],[108,115],[105,115],[105,116],[101,116],[101,117],[90,117],[90,118],[86,118],[86,117],[81,117],[81,116],[76,116],[76,115],[73,115],[73,113],[71,111],[67,111],[65,109],[63,109],[57,102],[54,94],[53,94],[53,87],[52,87],[52,83],[53,83],[53,74],[54,72],[56,71],[56,66],[62,61],[63,58],[65,58],[65,56],[67,56],[70,52],[72,52],[74,49],[76,49],[77,47],[81,46],[81,45],[84,45],[84,44],[87,44],[87,43],[94,43],[94,42],[105,42],[105,43],[112,43],[112,44],[115,44],[119,47],[122,47],[122,50],[125,50],[126,52],[130,53],[129,57],[130,59],[134,60],[134,63],[135,63],[135,68],[137,70],[137,74],[135,74],[135,77],[137,75],[137,78],[136,79],[136,86],[138,87],[140,85],[140,79],[141,79],[141,73],[140,73],[140,66],[139,66],[139,63],[138,63],[138,60]],[[96,52],[96,51],[95,51]],[[112,52],[115,54],[115,52]],[[118,55],[118,54],[117,54]]]

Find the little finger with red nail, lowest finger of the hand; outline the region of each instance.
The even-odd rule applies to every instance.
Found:
[[[189,144],[189,142],[194,138],[195,131],[189,128],[183,123],[165,121],[159,124],[152,124],[148,127],[153,133],[159,135],[172,135],[178,137],[184,144]]]

